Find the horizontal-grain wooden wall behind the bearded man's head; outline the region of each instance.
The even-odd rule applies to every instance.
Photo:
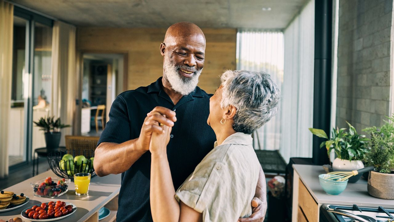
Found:
[[[128,53],[128,89],[147,86],[163,74],[160,43],[164,28],[99,28],[77,30],[77,50]],[[198,86],[214,93],[223,70],[235,70],[236,30],[203,29],[206,37],[204,70]]]

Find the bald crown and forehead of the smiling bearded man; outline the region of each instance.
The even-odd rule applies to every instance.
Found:
[[[205,49],[205,36],[199,26],[189,22],[180,22],[171,25],[165,32],[164,44],[169,47],[192,41],[203,45]]]

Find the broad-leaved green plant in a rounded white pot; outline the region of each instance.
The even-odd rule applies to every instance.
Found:
[[[332,164],[333,171],[352,171],[364,168],[361,160],[368,152],[369,139],[365,135],[357,134],[356,129],[349,122],[346,123],[349,125],[348,132],[345,131],[346,128],[333,128],[331,139],[324,130],[309,128],[312,134],[327,139],[320,144],[320,148],[325,147],[328,156],[331,150],[334,150],[336,158]],[[349,182],[357,182],[360,178],[361,175],[351,177]]]

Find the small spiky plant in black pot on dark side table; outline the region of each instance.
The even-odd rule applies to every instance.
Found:
[[[41,117],[38,122],[34,123],[35,126],[38,126],[40,130],[45,132],[45,143],[47,149],[58,148],[61,138],[60,130],[70,127],[70,125],[61,124],[60,118],[54,120],[54,117]]]

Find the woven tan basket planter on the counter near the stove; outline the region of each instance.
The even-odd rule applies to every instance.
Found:
[[[375,198],[394,199],[394,174],[371,171],[368,177],[368,193]]]

